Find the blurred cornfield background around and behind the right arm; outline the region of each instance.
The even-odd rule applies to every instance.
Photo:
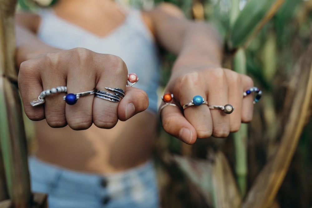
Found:
[[[163,2],[120,1],[147,9]],[[264,95],[255,105],[253,121],[226,139],[201,139],[189,146],[166,134],[159,125],[155,156],[163,206],[238,207],[248,199],[256,176],[280,147],[288,118],[284,107],[287,86],[296,63],[312,42],[312,0],[166,2],[180,7],[190,19],[212,23],[224,37],[224,67],[250,75]],[[22,1],[18,7],[33,9],[33,5]],[[175,56],[161,52],[164,85]],[[312,206],[312,121],[305,124],[271,207]],[[27,135],[32,144],[32,131]]]

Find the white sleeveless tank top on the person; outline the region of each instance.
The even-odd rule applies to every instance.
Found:
[[[64,50],[82,47],[123,59],[128,72],[139,77],[134,87],[144,90],[149,97],[148,110],[157,112],[158,50],[139,10],[130,9],[124,23],[105,37],[61,19],[52,9],[44,9],[39,15],[38,36],[46,44]]]

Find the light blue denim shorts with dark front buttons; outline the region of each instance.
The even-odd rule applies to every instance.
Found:
[[[75,172],[33,156],[28,161],[32,191],[47,193],[49,208],[159,207],[151,161],[109,175]]]

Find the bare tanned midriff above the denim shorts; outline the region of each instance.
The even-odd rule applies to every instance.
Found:
[[[37,158],[86,173],[115,173],[146,162],[157,137],[156,116],[144,111],[112,129],[51,128],[36,121]]]

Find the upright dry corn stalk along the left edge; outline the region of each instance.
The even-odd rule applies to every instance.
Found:
[[[0,141],[6,182],[15,207],[29,207],[27,145],[14,67],[16,0],[0,0]],[[14,84],[15,83],[15,84]]]

